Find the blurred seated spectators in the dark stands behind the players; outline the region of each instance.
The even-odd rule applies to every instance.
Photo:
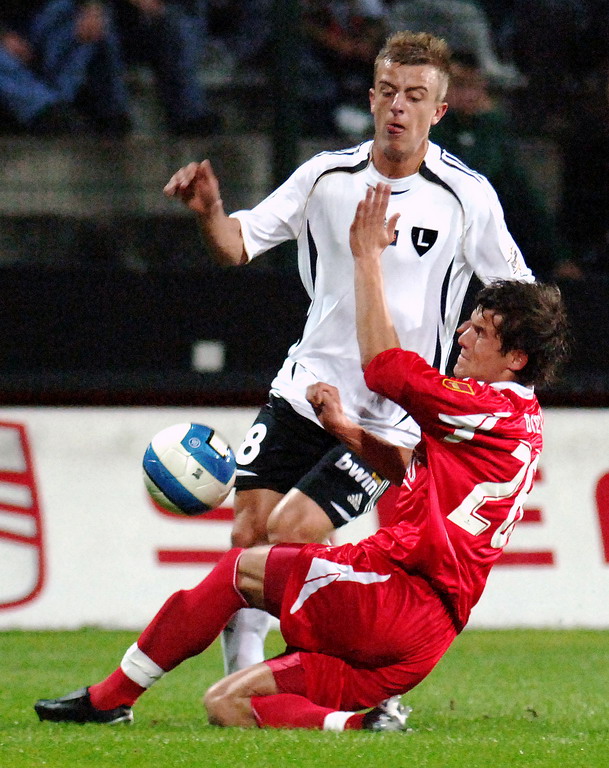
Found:
[[[454,51],[454,73],[450,110],[432,139],[488,176],[538,273],[609,272],[606,0],[296,6],[303,135],[368,137],[372,63],[384,38],[399,28],[439,34]],[[130,75],[142,67],[154,84],[161,132],[230,131],[222,110],[230,92],[218,99],[211,83],[220,75],[224,83],[268,86],[281,66],[276,9],[275,0],[3,0],[0,133],[130,135],[137,98]],[[522,156],[523,146],[543,152],[544,142],[557,147],[560,161],[552,202],[530,178],[529,166],[543,158]]]

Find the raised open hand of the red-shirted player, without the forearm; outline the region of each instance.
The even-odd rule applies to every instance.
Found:
[[[399,213],[386,220],[387,206],[391,197],[389,184],[379,182],[368,187],[361,200],[349,230],[349,244],[356,259],[378,258],[395,237]]]

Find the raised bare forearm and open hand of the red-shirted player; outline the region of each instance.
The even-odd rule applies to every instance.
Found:
[[[349,244],[355,263],[357,341],[362,368],[386,349],[400,346],[385,301],[381,254],[393,242],[399,213],[386,221],[391,195],[388,184],[368,188],[355,212]]]

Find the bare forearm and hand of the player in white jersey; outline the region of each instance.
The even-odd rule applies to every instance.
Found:
[[[219,264],[247,263],[241,223],[226,215],[220,185],[209,160],[180,168],[163,191],[167,197],[177,197],[194,212],[203,240]]]

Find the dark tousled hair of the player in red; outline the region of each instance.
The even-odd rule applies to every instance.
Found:
[[[494,280],[476,296],[477,309],[501,316],[501,352],[524,352],[521,384],[544,386],[556,378],[569,351],[569,326],[560,290],[547,283]]]

